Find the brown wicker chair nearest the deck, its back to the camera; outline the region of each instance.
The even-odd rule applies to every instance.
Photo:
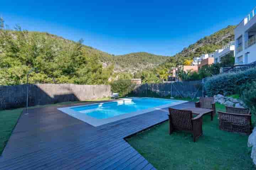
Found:
[[[194,142],[203,135],[202,115],[193,118],[192,111],[169,108],[169,123],[169,134],[172,134],[174,130],[187,131],[193,134]]]

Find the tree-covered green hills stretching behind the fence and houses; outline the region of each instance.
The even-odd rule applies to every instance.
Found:
[[[30,75],[30,83],[106,84],[131,78],[158,83],[167,79],[172,67],[189,65],[194,56],[213,52],[233,40],[233,30],[234,26],[228,26],[173,57],[146,52],[114,56],[82,45],[82,39],[74,42],[49,33],[28,32],[19,26],[6,30],[1,18],[0,85],[25,83],[32,68],[36,70]]]

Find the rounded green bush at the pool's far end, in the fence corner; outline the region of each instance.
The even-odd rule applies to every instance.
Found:
[[[126,96],[134,90],[136,84],[131,83],[130,80],[118,80],[111,83],[111,91],[119,93],[119,96]]]

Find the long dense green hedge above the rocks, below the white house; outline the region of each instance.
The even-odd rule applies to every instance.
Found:
[[[204,89],[208,96],[217,94],[233,95],[245,83],[256,81],[256,69],[248,69],[239,73],[219,74],[205,81]]]

